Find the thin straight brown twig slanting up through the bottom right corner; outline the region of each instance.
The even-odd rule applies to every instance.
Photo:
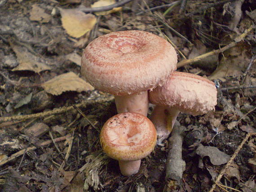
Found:
[[[248,133],[246,135],[246,137],[243,139],[242,143],[238,146],[238,148],[235,150],[234,154],[232,155],[232,157],[230,158],[230,161],[228,161],[228,163],[226,164],[226,166],[221,170],[220,174],[218,175],[218,177],[216,178],[215,183],[212,185],[212,188],[210,189],[209,192],[213,192],[214,189],[216,188],[216,183],[219,183],[222,176],[225,174],[226,170],[228,169],[228,167],[230,166],[230,164],[234,161],[234,158],[237,156],[237,154],[239,153],[239,151],[242,149],[243,145],[245,144],[245,142],[252,136],[252,135],[256,135],[256,133]]]

